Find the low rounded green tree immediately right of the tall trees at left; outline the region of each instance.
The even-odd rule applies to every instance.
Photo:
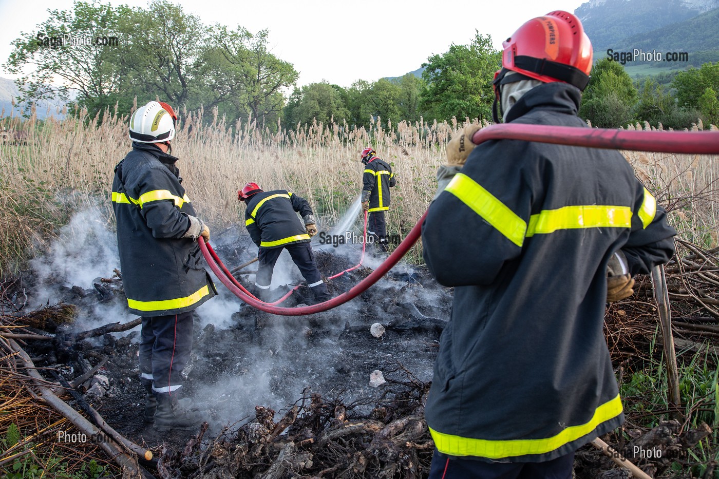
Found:
[[[295,88],[284,109],[284,126],[295,128],[298,123],[311,124],[313,119],[329,124],[333,117],[342,124],[343,119],[349,119],[349,111],[344,106],[341,89],[326,82]]]

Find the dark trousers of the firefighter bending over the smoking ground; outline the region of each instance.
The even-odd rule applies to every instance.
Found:
[[[260,259],[260,266],[257,268],[257,276],[255,278],[255,286],[260,290],[270,289],[272,283],[272,273],[275,269],[278,257],[282,250],[286,249],[290,252],[292,260],[300,269],[302,277],[307,281],[307,286],[317,293],[327,293],[327,285],[322,280],[317,265],[312,254],[312,247],[309,242],[294,243],[282,248],[260,248],[257,257]]]

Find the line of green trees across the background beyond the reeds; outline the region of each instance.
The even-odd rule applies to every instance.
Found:
[[[72,10],[49,14],[38,32],[14,40],[4,65],[20,76],[19,100],[26,104],[54,97],[94,116],[114,108],[129,114],[135,98],[142,104],[159,97],[188,110],[217,109],[227,122],[254,119],[273,130],[313,121],[362,127],[377,118],[385,124],[492,118],[501,53],[479,32],[467,45],[429,56],[421,78],[408,73],[359,79],[349,88],[327,82],[298,87],[294,65],[268,49],[267,30],[253,34],[241,26],[203,24],[167,0],[147,8],[76,1]],[[63,45],[65,35],[119,42]],[[671,83],[648,78],[638,84],[622,65],[604,58],[592,69],[580,116],[596,127],[637,120],[673,128],[698,118],[717,123],[718,91],[719,63],[677,73]]]

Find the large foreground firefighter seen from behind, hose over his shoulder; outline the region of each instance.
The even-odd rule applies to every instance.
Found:
[[[505,122],[587,127],[577,111],[592,48],[577,17],[532,19],[503,45]],[[429,477],[571,478],[574,451],[623,422],[605,302],[666,263],[676,232],[619,152],[475,147],[477,129],[447,145],[422,227],[429,270],[454,286],[425,409]],[[617,252],[631,275],[607,278]]]

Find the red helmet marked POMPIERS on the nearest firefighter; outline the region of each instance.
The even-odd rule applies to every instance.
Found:
[[[557,10],[525,22],[502,42],[502,69],[493,81],[495,123],[500,123],[501,85],[521,79],[561,81],[584,90],[592,70],[592,43],[573,14]],[[505,78],[508,73],[516,73]]]

